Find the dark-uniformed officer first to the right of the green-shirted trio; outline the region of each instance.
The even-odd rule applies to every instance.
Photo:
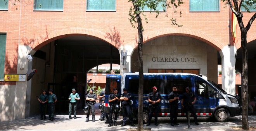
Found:
[[[93,93],[93,89],[90,89],[90,92],[86,95],[86,104],[90,107],[90,110],[92,111],[92,122],[95,122],[95,114],[94,114],[94,104],[96,100],[96,94]],[[86,121],[89,121],[90,111],[86,113]]]

